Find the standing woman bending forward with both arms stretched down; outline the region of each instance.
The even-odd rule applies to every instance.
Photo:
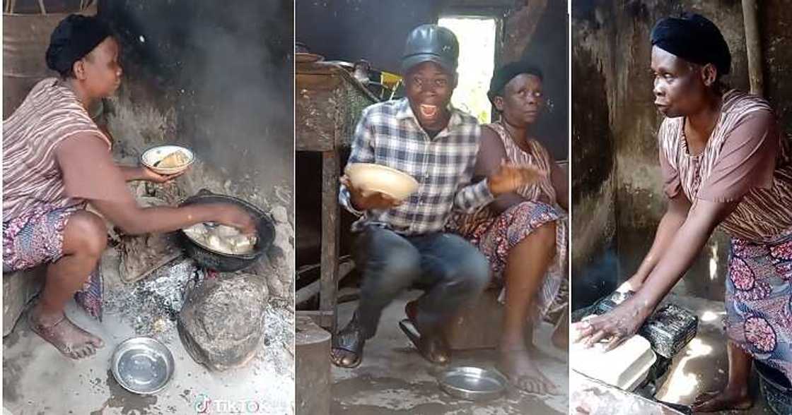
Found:
[[[732,57],[706,17],[666,17],[651,43],[654,104],[665,115],[657,144],[668,207],[623,285],[634,295],[574,331],[587,345],[607,339],[612,348],[630,338],[721,228],[731,236],[728,382],[701,394],[693,409],[747,409],[754,360],[792,380],[792,147],[766,100],[722,83]]]

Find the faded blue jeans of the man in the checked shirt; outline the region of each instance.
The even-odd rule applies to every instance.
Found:
[[[417,329],[437,330],[489,284],[489,262],[462,237],[450,233],[401,236],[368,226],[356,240],[363,270],[357,318],[364,338],[374,337],[391,301],[413,285],[425,288],[417,300]]]

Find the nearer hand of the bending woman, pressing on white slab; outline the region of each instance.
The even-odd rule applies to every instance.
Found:
[[[651,314],[651,308],[634,300],[635,297],[632,297],[604,315],[574,323],[570,330],[573,333],[573,341],[576,343],[584,341],[586,347],[591,347],[605,339],[607,341],[605,350],[611,350],[638,333],[638,329]]]

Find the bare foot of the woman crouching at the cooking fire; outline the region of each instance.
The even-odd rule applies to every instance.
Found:
[[[58,315],[44,315],[39,307],[34,307],[28,313],[28,323],[34,333],[49,341],[63,356],[71,359],[93,356],[97,349],[105,346],[101,338],[75,326],[63,312]]]

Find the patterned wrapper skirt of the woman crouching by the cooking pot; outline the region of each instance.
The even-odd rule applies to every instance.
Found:
[[[63,230],[75,212],[85,205],[54,208],[38,206],[29,213],[2,224],[3,273],[25,270],[55,262],[63,256]],[[99,266],[93,270],[74,300],[101,320],[102,279]]]

